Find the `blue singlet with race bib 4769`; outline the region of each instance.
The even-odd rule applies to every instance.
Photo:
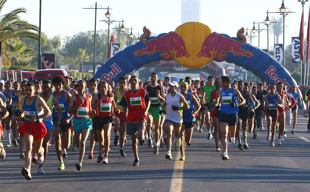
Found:
[[[222,105],[221,105],[221,113],[227,114],[238,114],[238,106],[232,107],[230,103],[237,103],[237,96],[234,94],[233,90],[235,88],[231,88],[229,91],[226,91],[226,88],[223,89],[221,93]]]

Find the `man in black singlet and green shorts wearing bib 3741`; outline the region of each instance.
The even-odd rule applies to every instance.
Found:
[[[159,124],[162,114],[159,114],[159,111],[162,110],[161,102],[165,102],[165,90],[164,87],[157,83],[158,75],[157,73],[151,74],[151,84],[148,84],[144,89],[148,92],[150,97],[150,108],[148,109],[148,118],[147,118],[147,127],[146,131],[148,133],[148,147],[153,147],[153,141],[151,138],[151,132],[153,128],[153,123],[155,127],[155,145],[154,145],[154,154],[158,154],[159,150]]]

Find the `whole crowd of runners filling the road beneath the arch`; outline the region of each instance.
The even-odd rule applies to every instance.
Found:
[[[19,147],[19,158],[25,161],[21,173],[26,180],[32,179],[31,162],[38,165],[39,174],[45,173],[43,164],[53,144],[58,170],[65,168],[70,146],[73,151],[80,148],[75,167],[81,171],[89,134],[88,158],[93,159],[94,150],[98,150],[97,163],[108,164],[112,126],[113,144],[120,146],[123,157],[130,150],[124,147],[126,136],[131,136],[133,166],[139,166],[138,141],[140,146],[147,142],[153,154],[164,152],[168,160],[173,148],[179,150],[179,160],[184,161],[184,143],[191,146],[193,130],[204,132],[204,124],[207,139],[214,137],[215,151],[223,152],[221,158],[228,160],[228,142],[239,150],[249,149],[247,133],[257,139],[256,128],[264,129],[264,120],[268,145],[282,145],[287,132],[295,134],[297,109],[303,105],[294,83],[286,90],[282,82],[267,86],[264,81],[232,82],[228,76],[171,81],[170,77],[159,80],[157,73],[152,73],[149,82],[131,76],[108,84],[57,75],[43,82],[0,80],[0,92],[2,143],[7,141],[7,145],[0,142],[0,158],[6,156],[5,147]],[[286,130],[285,125],[292,120],[293,129]]]

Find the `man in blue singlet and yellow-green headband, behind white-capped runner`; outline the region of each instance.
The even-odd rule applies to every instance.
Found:
[[[184,155],[184,146],[183,146],[183,136],[184,132],[186,133],[185,135],[185,143],[187,143],[188,146],[191,145],[191,139],[192,139],[192,134],[193,134],[193,128],[195,126],[195,114],[198,113],[200,109],[200,104],[197,101],[196,97],[193,94],[188,93],[189,85],[186,82],[182,82],[180,85],[181,89],[181,94],[184,96],[186,99],[189,109],[183,110],[182,116],[183,116],[183,124],[181,126],[181,145],[178,146],[180,148],[181,152],[181,158],[179,160],[184,161],[185,160],[185,155]],[[195,109],[195,106],[197,108]]]

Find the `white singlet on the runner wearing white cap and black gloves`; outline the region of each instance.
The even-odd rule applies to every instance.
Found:
[[[180,93],[176,93],[174,97],[171,96],[171,93],[166,95],[166,104],[167,104],[167,114],[166,119],[173,121],[175,123],[183,123],[183,119],[181,117],[181,113],[176,110],[172,110],[172,105],[181,107],[180,104]]]

